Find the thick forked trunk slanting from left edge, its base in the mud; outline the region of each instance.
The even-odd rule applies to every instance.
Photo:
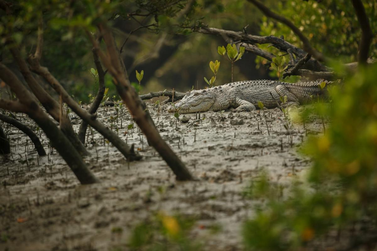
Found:
[[[49,119],[46,113],[38,105],[38,101],[23,86],[17,76],[4,64],[0,63],[0,78],[16,94],[20,102],[0,102],[0,108],[22,111],[28,114],[51,140],[52,146],[59,152],[70,169],[74,172],[81,184],[98,182],[97,178],[90,172],[84,163],[81,155],[74,148],[72,143],[57,128],[54,122]],[[3,101],[0,99],[0,101]]]

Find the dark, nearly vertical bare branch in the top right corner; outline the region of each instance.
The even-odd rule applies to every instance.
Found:
[[[357,20],[359,20],[362,36],[359,43],[359,54],[357,55],[360,64],[366,64],[369,55],[369,48],[373,38],[371,25],[369,24],[368,16],[361,0],[352,0]]]

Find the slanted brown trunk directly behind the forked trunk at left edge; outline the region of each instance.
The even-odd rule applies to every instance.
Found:
[[[90,155],[86,150],[85,146],[78,139],[77,134],[72,128],[72,123],[68,117],[68,114],[64,109],[61,109],[60,104],[54,100],[50,94],[48,94],[37,82],[37,80],[32,75],[29,70],[28,65],[25,60],[22,58],[20,51],[12,44],[10,46],[10,51],[13,55],[13,58],[18,64],[20,71],[25,78],[26,83],[28,83],[31,91],[41,102],[46,111],[58,122],[60,122],[60,129],[67,136],[67,138],[72,142],[72,145],[77,149],[77,151],[82,155]]]

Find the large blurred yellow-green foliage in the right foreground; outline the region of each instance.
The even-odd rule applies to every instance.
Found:
[[[339,68],[338,66],[335,68]],[[269,198],[244,224],[245,245],[255,250],[294,250],[332,228],[377,216],[377,65],[327,87],[331,103],[319,101],[307,116],[331,118],[324,135],[310,137],[303,153],[314,162],[308,184],[296,184],[282,200],[268,178],[247,189]],[[276,187],[276,186],[275,186]],[[312,187],[313,189],[308,189]],[[357,236],[357,235],[356,235]]]

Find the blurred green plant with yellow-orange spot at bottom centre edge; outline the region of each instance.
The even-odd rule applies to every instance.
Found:
[[[194,224],[192,218],[159,212],[133,229],[129,247],[147,251],[199,251],[201,244],[189,238]]]

